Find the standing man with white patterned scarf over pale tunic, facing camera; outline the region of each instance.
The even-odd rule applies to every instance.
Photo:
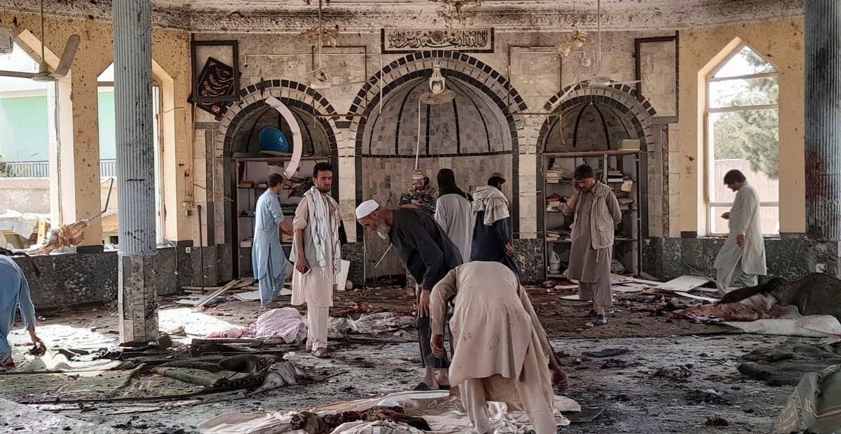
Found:
[[[292,304],[307,305],[307,351],[329,358],[327,322],[341,271],[339,206],[330,196],[333,166],[319,163],[313,169],[313,186],[304,193],[295,218],[292,260]]]

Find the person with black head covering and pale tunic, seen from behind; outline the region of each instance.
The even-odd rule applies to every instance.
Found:
[[[456,185],[456,174],[450,169],[438,170],[438,200],[435,204],[435,221],[462,254],[470,259],[473,243],[473,197]]]

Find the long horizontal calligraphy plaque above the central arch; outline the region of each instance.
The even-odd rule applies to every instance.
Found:
[[[383,54],[426,50],[493,53],[494,29],[380,29]]]

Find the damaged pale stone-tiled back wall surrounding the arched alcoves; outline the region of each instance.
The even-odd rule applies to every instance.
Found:
[[[459,121],[458,129],[463,128],[465,131],[456,131],[455,124],[450,125],[446,122],[442,123],[440,128],[434,128],[443,118],[434,117],[435,113],[430,109],[429,116],[432,121],[428,124],[431,135],[437,137],[435,134],[440,133],[441,137],[436,143],[431,143],[429,151],[426,150],[426,143],[424,143],[425,149],[422,149],[421,154],[427,152],[435,154],[435,163],[421,159],[421,168],[426,169],[427,175],[430,175],[434,181],[439,167],[450,167],[456,172],[459,183],[468,189],[472,186],[483,185],[484,182],[480,178],[484,178],[491,171],[500,171],[510,175],[506,186],[510,189],[508,194],[515,219],[512,224],[515,229],[515,238],[542,238],[543,206],[540,187],[542,181],[538,181],[540,165],[538,137],[547,119],[557,119],[550,113],[560,107],[559,97],[563,89],[595,74],[611,76],[616,81],[632,80],[635,76],[634,39],[669,36],[669,34],[605,32],[602,38],[603,60],[600,65],[594,62],[589,68],[581,65],[580,54],[559,60],[554,53],[553,45],[570,36],[569,33],[560,32],[498,32],[495,34],[493,53],[460,54],[449,51],[429,51],[418,55],[382,55],[380,59],[378,53],[381,51],[381,36],[378,31],[341,34],[339,47],[326,47],[324,50],[324,65],[333,76],[333,82],[338,86],[317,92],[302,92],[299,85],[305,82],[304,74],[314,69],[318,60],[312,53],[310,41],[299,34],[197,34],[196,39],[201,40],[236,39],[239,42],[242,72],[241,101],[230,104],[227,112],[220,116],[204,111],[197,112],[197,134],[193,151],[197,182],[199,184],[206,182],[204,186],[214,191],[211,194],[197,191],[196,199],[197,202],[207,204],[205,221],[209,227],[206,230],[212,234],[208,238],[209,243],[231,242],[225,237],[226,228],[229,227],[226,221],[230,220],[230,212],[225,211],[227,204],[221,199],[221,196],[227,195],[224,191],[230,184],[230,170],[225,163],[224,154],[225,147],[230,148],[230,144],[227,144],[227,141],[230,141],[228,139],[231,134],[230,125],[238,123],[239,118],[245,117],[248,107],[254,106],[256,102],[270,95],[286,97],[291,102],[310,107],[320,115],[351,115],[331,119],[336,121],[335,140],[340,180],[337,194],[342,216],[346,222],[355,220],[354,208],[359,201],[366,200],[369,196],[376,196],[386,202],[390,192],[396,205],[399,194],[405,192],[404,187],[408,186],[409,178],[403,176],[406,178],[405,182],[395,183],[394,177],[399,178],[400,175],[410,173],[410,170],[414,169],[414,159],[410,157],[413,157],[415,152],[418,120],[416,97],[411,102],[408,101],[410,98],[407,98],[414,91],[400,89],[408,89],[406,86],[411,80],[417,83],[415,86],[418,92],[415,93],[420,93],[426,86],[428,74],[425,71],[431,73],[431,65],[434,62],[442,65],[448,83],[458,86],[457,90],[461,95],[461,100],[457,98],[458,116],[472,117],[473,120],[480,121],[481,119],[473,116],[477,113],[471,112],[467,107],[468,104],[475,103],[477,107],[488,108],[482,111],[481,116],[486,117],[484,119],[486,127],[494,125],[494,128],[485,128],[479,132],[481,134],[470,133],[470,128],[483,124],[483,122],[471,122],[470,119]],[[585,47],[590,57],[595,57],[595,49],[595,44]],[[648,79],[643,82],[645,85],[643,89],[656,94],[659,100],[654,103],[659,104],[659,107],[664,107],[664,112],[676,111],[674,106],[677,100],[676,91],[674,86],[654,86],[653,74],[661,75],[656,78],[669,76],[669,74],[674,77],[674,59],[674,44],[670,46],[665,44],[659,50],[648,50],[641,70],[643,78]],[[380,69],[380,60],[382,60],[383,70]],[[368,80],[368,83],[341,85],[348,81],[365,80]],[[278,84],[281,85],[279,88]],[[304,87],[304,91],[308,89]],[[379,101],[381,92],[383,102]],[[638,103],[652,107],[651,104],[645,102],[644,92],[638,98],[636,93],[629,97],[635,102],[639,100]],[[402,98],[397,98],[401,95]],[[398,99],[400,101],[392,103]],[[383,114],[380,114],[380,110]],[[641,108],[641,110],[646,111],[647,108]],[[405,116],[401,117],[401,112]],[[493,118],[500,120],[492,121]],[[425,119],[426,115],[423,115],[422,133],[427,124]],[[396,130],[392,131],[398,126],[400,133]],[[499,135],[495,131],[500,127],[503,134],[500,139],[511,140],[512,144],[498,144],[496,143],[498,140],[493,139],[495,135]],[[459,151],[463,154],[470,148],[469,138],[476,135],[489,136],[494,141],[492,150],[500,145],[503,149],[510,149],[503,154],[486,156],[491,159],[484,158],[484,161],[499,159],[499,168],[496,168],[495,164],[490,164],[477,170],[473,156],[458,156]],[[652,138],[654,149],[649,153],[649,159],[657,161],[663,158],[662,144],[667,139],[659,136]],[[464,146],[461,147],[458,144],[464,144]],[[447,150],[450,148],[452,150]],[[482,154],[476,155],[476,157],[481,156]],[[377,161],[368,161],[370,158],[377,161],[383,158],[388,160],[375,164]],[[399,167],[394,166],[398,164],[397,161],[404,158],[406,161],[399,163]],[[463,160],[459,160],[460,158]],[[207,165],[199,167],[199,164],[203,162]],[[652,166],[655,165],[652,164]],[[656,166],[663,167],[663,165]],[[204,173],[201,173],[202,170]],[[389,173],[389,170],[392,173]],[[200,179],[202,177],[204,180]],[[648,180],[643,180],[641,183],[644,185],[647,182]],[[372,190],[374,187],[376,187],[376,192]],[[644,200],[663,201],[666,188],[664,183],[658,183],[657,190],[651,192],[652,197]],[[651,225],[655,227],[653,233],[656,234],[662,233],[666,226],[660,218],[655,218]],[[346,226],[348,236],[352,241],[362,240],[361,234],[357,233],[356,225]],[[196,237],[198,237],[198,232],[194,234],[194,238]],[[542,258],[542,255],[541,251],[538,258]],[[532,262],[534,264],[528,266],[537,268],[536,275],[542,274],[542,261]]]

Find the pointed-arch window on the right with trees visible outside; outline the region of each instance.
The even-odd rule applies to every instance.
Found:
[[[762,232],[780,232],[780,83],[774,65],[743,45],[707,79],[707,233],[729,232],[722,213],[736,194],[723,184],[741,170],[759,192]]]

